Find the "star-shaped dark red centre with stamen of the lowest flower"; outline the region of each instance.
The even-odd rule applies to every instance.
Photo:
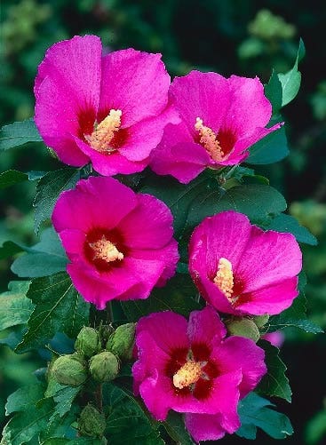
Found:
[[[204,344],[193,344],[190,350],[179,348],[172,352],[165,372],[171,378],[176,394],[191,392],[198,400],[209,396],[212,380],[219,375],[210,355],[210,349]]]

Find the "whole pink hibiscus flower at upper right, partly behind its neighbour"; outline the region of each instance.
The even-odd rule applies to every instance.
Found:
[[[170,94],[182,122],[166,126],[150,166],[155,173],[170,174],[182,183],[206,167],[243,162],[250,146],[281,126],[265,128],[272,106],[258,77],[226,79],[191,71],[174,79]]]

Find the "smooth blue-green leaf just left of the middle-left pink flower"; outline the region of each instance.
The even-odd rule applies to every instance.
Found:
[[[68,258],[52,227],[44,230],[40,242],[25,250],[27,253],[12,263],[12,272],[20,277],[36,278],[66,270]]]

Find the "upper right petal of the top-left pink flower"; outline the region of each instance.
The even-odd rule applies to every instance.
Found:
[[[111,52],[102,60],[99,112],[120,109],[123,128],[130,127],[163,111],[169,86],[161,54]]]

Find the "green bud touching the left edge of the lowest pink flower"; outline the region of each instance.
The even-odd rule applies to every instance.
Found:
[[[135,323],[122,324],[107,340],[107,351],[117,355],[121,360],[131,360],[135,341]]]

